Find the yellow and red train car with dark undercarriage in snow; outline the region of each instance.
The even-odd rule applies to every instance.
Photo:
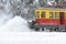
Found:
[[[35,20],[32,20],[31,29],[66,32],[66,9],[35,9],[34,15]]]

